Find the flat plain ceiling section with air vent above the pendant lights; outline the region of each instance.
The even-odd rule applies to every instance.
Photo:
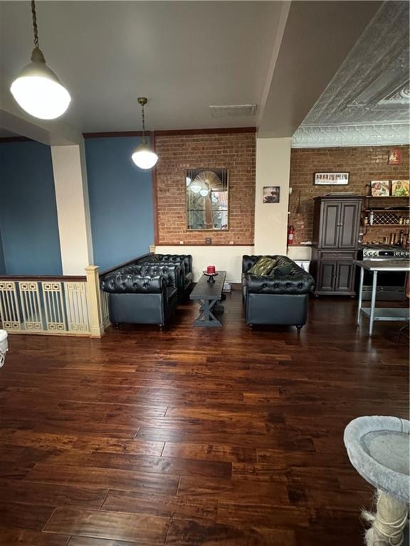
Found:
[[[281,1],[41,1],[46,62],[72,102],[81,132],[255,126],[256,117],[211,116],[209,105],[260,105]],[[0,2],[1,92],[28,63],[27,1]]]

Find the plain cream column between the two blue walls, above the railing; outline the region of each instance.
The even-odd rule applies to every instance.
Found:
[[[63,275],[93,264],[84,143],[51,146]]]

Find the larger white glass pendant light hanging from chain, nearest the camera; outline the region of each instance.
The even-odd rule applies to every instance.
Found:
[[[26,65],[11,84],[11,95],[21,108],[40,119],[56,119],[70,104],[70,94],[61,85],[53,70],[46,65],[44,55],[38,47],[36,4],[31,0],[33,16],[34,49],[31,63]]]

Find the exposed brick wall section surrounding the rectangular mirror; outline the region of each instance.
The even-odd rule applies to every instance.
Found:
[[[157,135],[157,245],[253,245],[255,210],[255,133]],[[228,231],[187,231],[185,171],[227,168]]]

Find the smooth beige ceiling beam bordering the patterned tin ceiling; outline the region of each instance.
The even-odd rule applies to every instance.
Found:
[[[290,3],[260,136],[293,136],[381,5],[359,0]]]

